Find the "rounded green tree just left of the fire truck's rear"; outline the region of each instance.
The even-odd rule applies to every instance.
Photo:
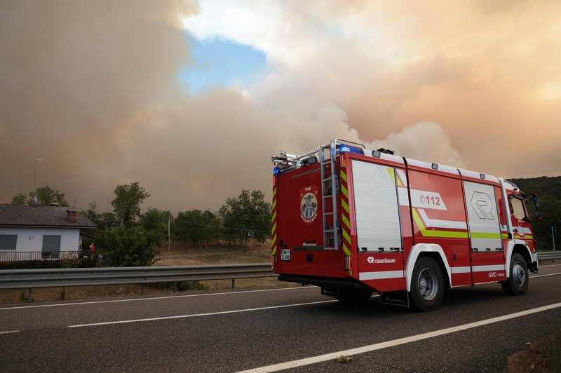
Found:
[[[237,198],[227,198],[218,211],[224,228],[230,238],[243,238],[247,243],[249,236],[263,242],[271,230],[271,204],[264,201],[262,191],[243,189]],[[244,250],[245,252],[245,247]]]

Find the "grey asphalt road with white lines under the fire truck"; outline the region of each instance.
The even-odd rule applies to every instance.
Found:
[[[347,306],[318,287],[2,305],[0,371],[502,372],[560,327],[561,265],[520,297],[459,287],[431,313]]]

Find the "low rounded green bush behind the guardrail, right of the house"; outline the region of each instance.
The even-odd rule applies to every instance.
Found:
[[[97,238],[108,266],[150,266],[157,245],[142,226],[120,226],[103,231]]]

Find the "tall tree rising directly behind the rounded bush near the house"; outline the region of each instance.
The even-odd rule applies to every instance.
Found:
[[[117,185],[114,193],[115,199],[111,201],[111,205],[117,219],[123,224],[130,224],[140,217],[140,204],[150,196],[138,182]]]

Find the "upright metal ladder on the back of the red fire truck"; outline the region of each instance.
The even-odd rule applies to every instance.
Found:
[[[330,151],[330,158],[325,160],[325,149]],[[339,221],[337,219],[337,191],[339,189],[339,175],[335,166],[337,156],[337,141],[329,145],[318,147],[320,170],[321,170],[321,203],[323,220],[323,247],[325,250],[337,250],[339,248]],[[329,171],[329,172],[328,172]],[[329,203],[332,211],[325,212]],[[332,217],[332,226],[329,225],[329,217]]]

